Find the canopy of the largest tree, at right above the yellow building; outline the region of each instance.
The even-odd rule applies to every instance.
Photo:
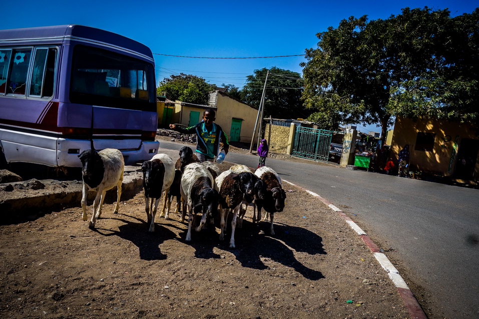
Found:
[[[380,124],[393,116],[477,122],[478,9],[402,9],[388,19],[349,17],[306,49],[303,99],[324,128]]]

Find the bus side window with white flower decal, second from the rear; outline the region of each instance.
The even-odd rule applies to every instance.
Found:
[[[7,94],[25,94],[32,49],[14,50],[12,56],[12,71],[7,81]]]

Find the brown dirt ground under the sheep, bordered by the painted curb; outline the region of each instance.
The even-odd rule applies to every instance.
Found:
[[[227,165],[222,164],[223,169]],[[77,208],[0,226],[3,318],[406,318],[386,272],[338,215],[283,184],[286,207],[236,247],[179,215],[148,232],[142,193],[106,203],[96,229]],[[91,205],[92,203],[89,202]],[[91,216],[91,206],[89,216]],[[346,302],[352,300],[352,303]]]

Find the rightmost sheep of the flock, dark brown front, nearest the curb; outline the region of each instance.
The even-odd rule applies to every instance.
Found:
[[[254,172],[265,184],[266,195],[263,200],[257,200],[255,202],[255,208],[258,208],[257,221],[261,219],[261,208],[266,211],[264,220],[271,219],[271,234],[274,235],[273,219],[275,212],[281,212],[284,209],[284,200],[286,199],[286,193],[281,187],[281,178],[270,167],[262,166],[256,169]]]

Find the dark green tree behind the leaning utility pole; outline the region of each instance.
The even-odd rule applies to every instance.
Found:
[[[258,108],[263,93],[264,81],[268,69],[254,70],[246,77],[246,84],[241,90],[241,99]],[[303,80],[298,72],[278,67],[269,69],[266,83],[264,115],[275,118],[308,117],[301,100]]]

